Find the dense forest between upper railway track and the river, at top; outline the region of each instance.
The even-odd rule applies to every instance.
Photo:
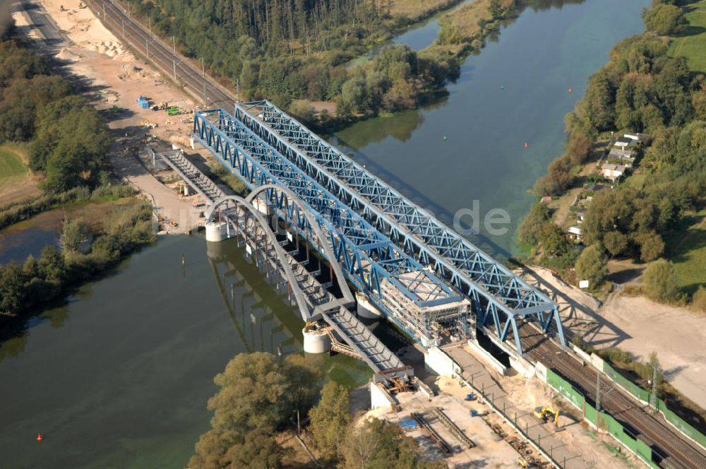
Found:
[[[176,37],[213,73],[239,83],[241,99],[336,101],[340,117],[414,107],[457,76],[452,54],[389,47],[372,64],[354,57],[390,39],[402,23],[385,2],[266,0],[133,1],[152,28]],[[296,110],[296,109],[295,109]],[[323,117],[325,120],[325,116]]]

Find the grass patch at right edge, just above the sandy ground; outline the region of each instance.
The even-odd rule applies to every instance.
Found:
[[[684,216],[676,229],[664,239],[666,257],[674,262],[679,286],[693,294],[706,284],[706,208]]]

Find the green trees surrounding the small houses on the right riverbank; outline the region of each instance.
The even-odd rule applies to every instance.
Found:
[[[686,59],[668,54],[669,38],[683,17],[671,1],[653,1],[643,18],[647,32],[614,47],[610,61],[590,77],[585,97],[566,117],[565,154],[551,162],[549,174],[535,184],[541,195],[556,196],[575,186],[578,165],[592,143],[614,131],[645,132],[652,145],[644,150],[641,187],[621,184],[600,191],[582,224],[586,249],[577,264],[582,278],[604,278],[606,256],[653,261],[662,256],[664,235],[674,230],[686,210],[700,206],[706,194],[706,80],[690,72]],[[666,8],[669,16],[654,11]],[[683,14],[683,13],[682,13]],[[549,209],[537,203],[520,226],[520,242],[539,245],[558,265],[573,266],[578,252],[551,222]],[[556,262],[555,262],[556,263]],[[593,266],[593,270],[587,268]],[[602,268],[599,268],[603,266]],[[592,272],[603,272],[592,275]]]

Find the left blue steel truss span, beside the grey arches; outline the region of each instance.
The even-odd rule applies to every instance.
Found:
[[[417,291],[400,282],[405,273],[424,271],[421,264],[241,122],[222,109],[196,112],[193,134],[249,189],[281,184],[296,194],[316,214],[317,222],[330,235],[337,257],[335,261],[342,262],[349,278],[362,290],[376,291],[379,296],[381,278],[388,278],[407,297],[425,305],[422,298],[428,289]],[[323,252],[321,254],[325,256]],[[395,262],[391,262],[393,260]],[[424,271],[424,276],[445,292],[447,301],[460,299],[433,273]]]

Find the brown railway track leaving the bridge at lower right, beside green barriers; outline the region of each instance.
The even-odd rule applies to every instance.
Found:
[[[597,372],[592,367],[583,366],[578,360],[570,357],[567,352],[559,349],[554,343],[532,328],[528,323],[522,323],[519,328],[522,343],[527,347],[527,353],[534,360],[539,360],[546,367],[561,374],[571,381],[575,387],[585,393],[588,400],[595,402]],[[695,444],[680,437],[676,430],[667,427],[661,417],[652,415],[637,400],[627,396],[621,389],[608,383],[601,385],[602,408],[616,420],[624,422],[634,431],[635,437],[642,435],[647,444],[651,444],[662,461],[655,461],[662,467],[669,463],[669,468],[706,469],[706,455]]]

